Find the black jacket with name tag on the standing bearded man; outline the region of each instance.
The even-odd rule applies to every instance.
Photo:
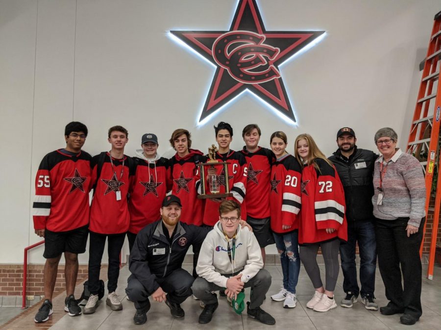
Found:
[[[354,148],[349,159],[338,149],[329,160],[337,169],[343,183],[347,220],[371,220],[373,191],[373,170],[378,158],[370,150]]]

